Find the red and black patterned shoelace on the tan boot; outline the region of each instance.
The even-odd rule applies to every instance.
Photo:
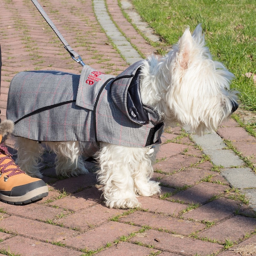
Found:
[[[7,147],[3,143],[0,144],[0,154],[5,155],[4,157],[0,157],[0,173],[5,173],[5,172],[12,171],[8,175],[6,175],[7,177],[11,177],[13,175],[25,173],[14,162],[14,160],[12,159],[12,154],[9,153]],[[6,159],[9,159],[10,161],[8,163],[3,163],[3,161],[6,160]],[[17,166],[17,167],[6,169],[8,166]]]

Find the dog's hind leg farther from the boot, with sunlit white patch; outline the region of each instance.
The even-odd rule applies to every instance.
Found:
[[[45,144],[56,154],[56,175],[71,177],[88,173],[77,141],[47,142]]]

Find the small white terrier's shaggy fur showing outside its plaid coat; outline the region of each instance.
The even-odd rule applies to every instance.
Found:
[[[198,25],[192,35],[189,28],[186,29],[164,57],[152,55],[143,62],[139,84],[141,101],[157,111],[165,127],[179,123],[189,126],[196,134],[203,134],[218,128],[238,108],[237,92],[230,90],[232,79],[233,74],[223,64],[212,60]],[[42,145],[57,154],[57,175],[87,173],[78,141],[42,141],[40,144],[17,137],[17,164],[27,174],[42,177],[38,168],[44,151]],[[150,180],[159,144],[154,150],[151,146],[127,147],[101,141],[99,145],[93,157],[99,163],[97,178],[103,185],[107,207],[135,208],[140,205],[138,195],[160,193],[159,183]]]

